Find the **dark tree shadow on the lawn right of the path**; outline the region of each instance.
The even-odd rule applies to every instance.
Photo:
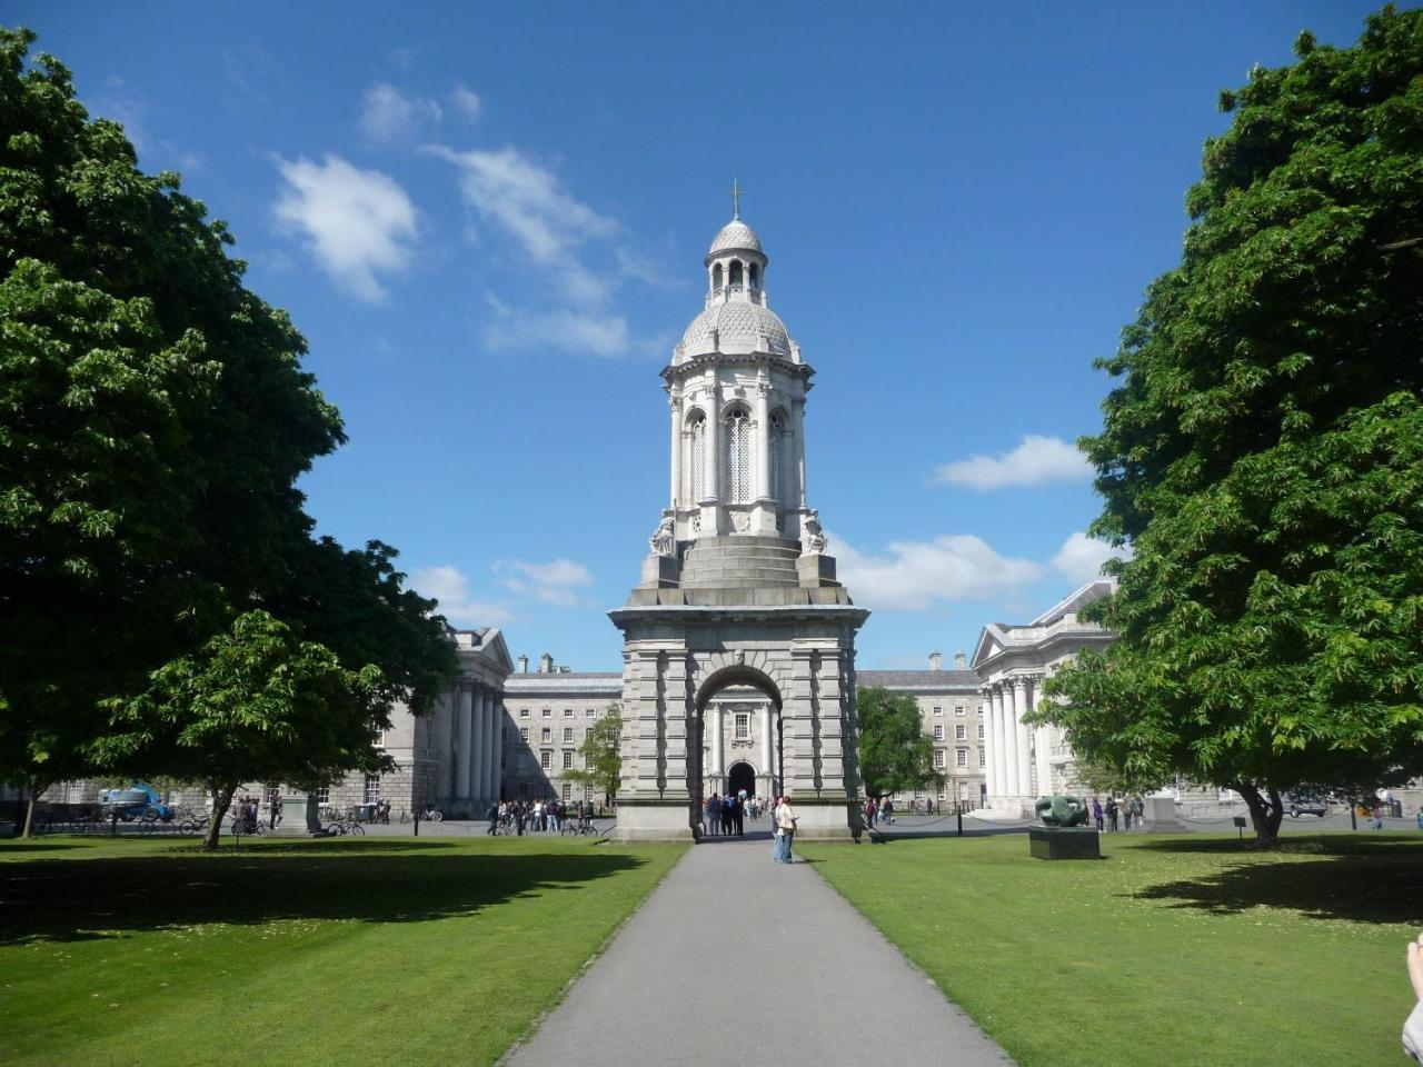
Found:
[[[1212,915],[1279,908],[1313,919],[1423,925],[1423,848],[1413,841],[1311,838],[1289,842],[1268,858],[1242,855],[1248,849],[1238,841],[1154,841],[1141,848],[1174,854],[1234,852],[1241,862],[1202,878],[1147,886],[1133,893],[1138,899]],[[1289,861],[1292,852],[1318,858]]]

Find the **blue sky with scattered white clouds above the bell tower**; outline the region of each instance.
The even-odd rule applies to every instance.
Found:
[[[817,368],[810,502],[859,666],[972,650],[1086,580],[1070,444],[1180,259],[1220,90],[1372,4],[7,4],[226,219],[350,444],[322,532],[457,625],[620,667],[667,495],[657,378],[730,218]]]

